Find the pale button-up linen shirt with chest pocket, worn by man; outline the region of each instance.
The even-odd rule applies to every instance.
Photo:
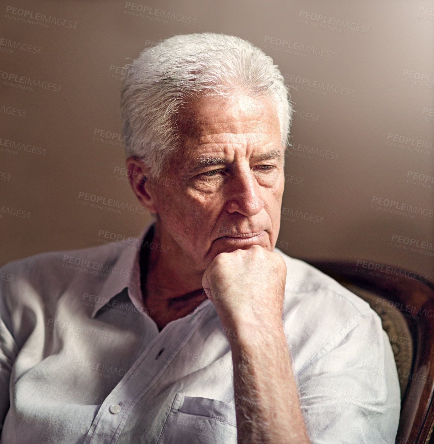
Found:
[[[237,443],[237,370],[212,302],[161,332],[141,305],[139,249],[152,224],[137,240],[0,270],[1,444]],[[394,443],[400,389],[380,318],[274,251],[287,267],[282,319],[310,441]],[[249,339],[278,346],[266,332]]]

